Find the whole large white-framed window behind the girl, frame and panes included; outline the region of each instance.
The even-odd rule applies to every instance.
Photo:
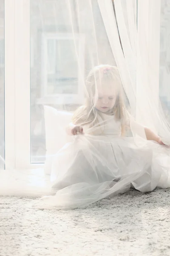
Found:
[[[123,52],[124,55],[121,53],[121,55],[113,56],[113,48],[116,49],[116,54],[121,52],[116,48],[120,47],[120,38],[122,48],[126,50],[126,38],[130,38],[130,42],[133,44],[129,44],[127,49],[131,49],[131,46],[136,49],[134,43],[136,37],[133,38],[136,27],[133,26],[133,20],[130,20],[130,13],[128,12],[128,23],[125,19],[125,26],[120,18],[125,10],[130,10],[130,5],[127,5],[128,2],[124,0],[116,2],[117,4],[122,3],[125,9],[120,12],[120,15],[117,14],[117,19],[119,18],[117,26],[122,27],[119,29],[120,38],[115,43],[112,23],[108,22],[112,12],[109,12],[109,17],[106,12],[103,12],[103,15],[99,2],[105,9],[110,1],[108,3],[104,0],[0,1],[0,156],[6,158],[7,169],[9,167],[34,168],[44,163],[46,152],[45,105],[60,111],[74,112],[84,101],[83,81],[91,67],[97,64],[106,64],[106,62],[116,65],[120,61],[119,57],[123,61],[123,58],[128,56],[130,56],[128,61],[131,63],[131,51]],[[151,16],[156,19],[157,23],[154,23],[151,17],[150,27],[142,27],[141,16],[146,9],[147,17],[150,17],[148,3],[152,2],[153,5],[155,3],[154,1],[130,1],[129,3],[132,2],[135,9],[143,5],[141,14],[137,13],[138,33],[141,37],[140,43],[143,44],[142,40],[147,42],[147,36],[151,35],[150,31],[152,30],[149,31],[152,29],[151,24],[157,28],[157,23],[160,21],[158,17],[153,17],[153,12],[151,12]],[[156,1],[157,11],[160,9],[159,3],[160,1]],[[160,81],[156,84],[156,98],[159,94],[167,118],[170,116],[169,6],[170,0],[161,0]],[[108,5],[107,8],[110,6]],[[134,20],[136,20],[136,16]],[[147,19],[143,21],[147,24]],[[124,37],[124,34],[121,33],[127,27],[129,29]],[[130,33],[131,28],[133,29],[132,33]],[[142,29],[146,29],[146,31]],[[159,38],[157,35],[159,32],[156,34],[156,38]],[[157,44],[154,44],[154,39],[150,41],[152,45],[149,47],[153,48],[154,52]],[[111,42],[114,45],[111,45]],[[159,55],[159,51],[156,52]],[[152,57],[151,54],[149,56],[151,64],[154,61]],[[156,61],[159,62],[157,57],[156,55]],[[157,66],[159,68],[159,64]],[[133,73],[133,70],[130,71]],[[158,73],[156,73],[156,79],[159,76]],[[158,88],[159,93],[157,92]],[[136,88],[133,89],[136,90]],[[131,94],[128,95],[129,98]],[[140,102],[140,97],[139,90],[139,99],[136,97],[139,105],[143,104],[143,100]],[[3,161],[0,164],[2,168]]]

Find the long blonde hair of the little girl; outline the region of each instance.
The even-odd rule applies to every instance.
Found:
[[[108,83],[113,83],[113,86],[117,89],[116,102],[113,108],[107,112],[108,115],[115,116],[116,120],[121,121],[122,135],[125,133],[125,105],[124,105],[124,93],[122,82],[119,76],[117,67],[110,65],[100,65],[94,67],[88,74],[86,79],[86,101],[85,105],[77,109],[72,117],[72,122],[75,125],[89,124],[90,127],[97,125],[97,113],[99,113],[94,104],[94,97],[98,95],[97,86],[105,86]]]

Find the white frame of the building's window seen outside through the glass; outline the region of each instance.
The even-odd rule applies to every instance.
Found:
[[[81,64],[81,70],[78,67],[78,93],[76,94],[48,94],[47,93],[47,77],[48,72],[45,68],[45,63],[47,63],[47,40],[54,39],[54,40],[78,40],[79,47],[77,52],[77,58],[79,64]],[[42,87],[41,87],[41,97],[37,99],[37,104],[42,105],[80,105],[84,99],[84,93],[82,88],[82,77],[84,77],[84,51],[85,51],[85,37],[83,34],[74,34],[74,36],[70,33],[65,35],[64,33],[55,33],[55,32],[46,32],[42,34],[42,64],[41,64],[41,72],[42,72]]]

